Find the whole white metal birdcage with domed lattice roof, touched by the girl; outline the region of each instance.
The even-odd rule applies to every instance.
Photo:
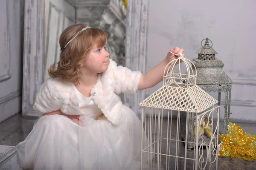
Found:
[[[142,170],[218,169],[218,101],[196,85],[192,65],[195,67],[182,55],[170,62],[163,86],[140,103]],[[185,122],[180,121],[181,116]],[[189,124],[191,118],[194,125]],[[180,127],[186,128],[184,136]]]

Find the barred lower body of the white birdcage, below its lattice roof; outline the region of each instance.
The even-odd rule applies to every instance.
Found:
[[[158,166],[149,170],[159,170],[160,165],[166,170],[217,169],[219,106],[204,113],[177,111],[177,119],[173,119],[172,111],[167,119],[163,119],[163,110],[149,109],[146,113],[143,114],[142,156],[149,167]]]

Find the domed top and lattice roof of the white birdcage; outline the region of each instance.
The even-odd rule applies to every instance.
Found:
[[[182,70],[181,64],[185,65]],[[218,103],[196,85],[196,68],[193,62],[182,56],[166,65],[163,86],[148,96],[139,105],[152,108],[163,108],[177,111],[201,113]],[[177,67],[175,71],[175,67]],[[186,74],[182,74],[186,72]]]

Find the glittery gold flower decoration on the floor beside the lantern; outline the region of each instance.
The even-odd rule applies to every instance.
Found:
[[[220,135],[221,150],[218,156],[253,161],[256,159],[256,135],[243,133],[235,123],[229,123],[227,133]]]

